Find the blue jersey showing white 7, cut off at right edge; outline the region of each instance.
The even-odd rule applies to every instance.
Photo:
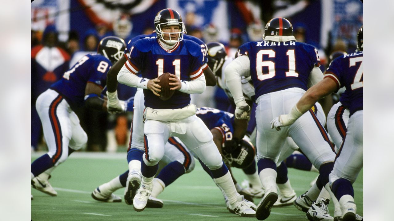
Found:
[[[363,109],[364,69],[362,66],[363,52],[351,53],[337,57],[327,68],[324,77],[330,77],[337,84],[337,89],[346,87],[349,95],[350,116]]]

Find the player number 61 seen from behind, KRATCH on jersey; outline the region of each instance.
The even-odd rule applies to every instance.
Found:
[[[247,118],[250,113],[243,97],[240,76],[250,75],[255,87],[257,165],[265,190],[256,210],[259,220],[269,216],[278,199],[276,163],[287,136],[319,170],[320,189],[329,182],[328,175],[335,158],[327,133],[312,110],[296,124],[281,131],[272,130],[269,126],[269,118],[287,112],[301,98],[308,88],[308,81],[314,85],[322,79],[317,50],[309,44],[296,42],[292,24],[281,17],[267,23],[263,39],[246,43],[249,56],[240,56],[225,68],[226,83],[236,104],[237,118]]]

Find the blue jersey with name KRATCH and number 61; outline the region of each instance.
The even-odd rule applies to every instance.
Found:
[[[249,56],[256,99],[287,88],[307,90],[310,72],[320,66],[317,50],[295,41],[247,42],[238,48],[239,55]]]

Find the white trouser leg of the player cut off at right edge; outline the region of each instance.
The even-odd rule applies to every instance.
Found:
[[[335,160],[329,179],[333,183],[339,178],[355,182],[363,166],[363,111],[355,112],[349,118],[348,133]]]

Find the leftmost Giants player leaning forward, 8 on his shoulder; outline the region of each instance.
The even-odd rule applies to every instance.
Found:
[[[106,74],[112,63],[123,56],[125,42],[118,37],[100,41],[97,54],[87,54],[63,78],[50,86],[36,101],[36,109],[43,125],[48,153],[34,160],[31,166],[32,187],[56,196],[48,179],[53,169],[87,142],[78,116],[73,110],[80,107],[107,110],[106,98],[101,94],[106,84]],[[125,112],[132,107],[119,101],[113,112]],[[128,108],[127,108],[128,107]]]

